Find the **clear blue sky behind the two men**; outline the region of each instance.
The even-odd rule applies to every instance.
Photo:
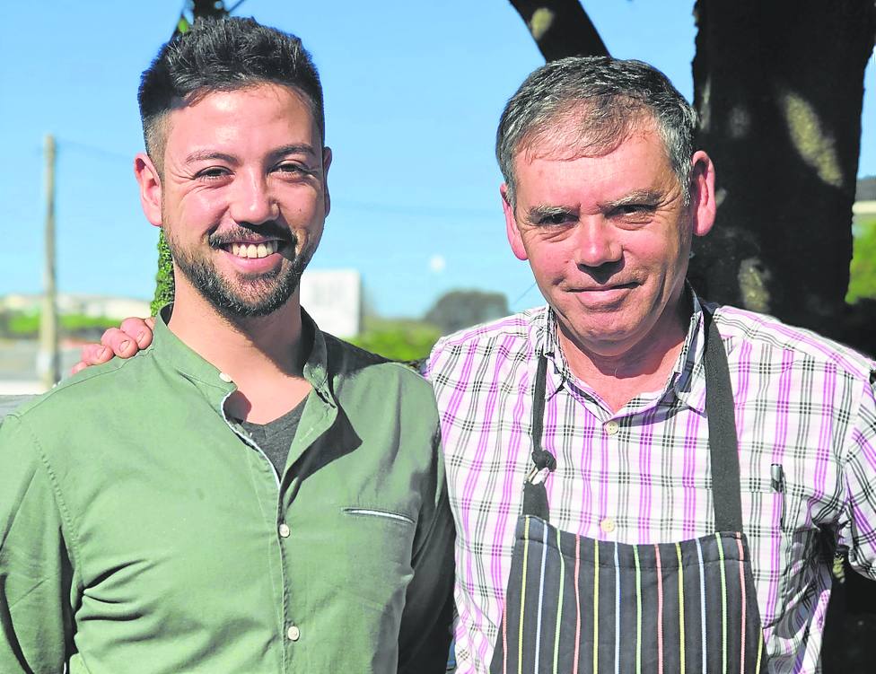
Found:
[[[51,132],[59,289],[151,297],[157,231],[131,170],[142,148],[136,86],[181,6],[4,6],[0,294],[42,284],[41,146]],[[691,1],[585,6],[614,56],[653,63],[691,97]],[[359,269],[369,302],[390,316],[421,315],[453,288],[503,292],[514,311],[540,302],[505,241],[493,155],[504,101],[543,62],[506,0],[246,0],[236,14],[297,33],[320,68],[334,161],[313,267]],[[860,175],[876,174],[874,69],[871,61]]]

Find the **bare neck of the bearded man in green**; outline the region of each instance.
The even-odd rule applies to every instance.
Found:
[[[306,395],[297,290],[269,316],[248,319],[223,316],[187,284],[178,284],[174,295],[168,328],[234,381],[237,391],[225,404],[229,414],[264,423]]]

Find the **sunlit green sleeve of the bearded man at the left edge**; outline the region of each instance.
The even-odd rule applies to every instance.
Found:
[[[0,425],[0,671],[60,672],[73,649],[62,514],[24,422]]]

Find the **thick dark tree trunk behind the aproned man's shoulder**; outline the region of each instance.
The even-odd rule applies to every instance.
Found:
[[[843,337],[872,0],[697,0],[697,146],[718,220],[696,245],[709,299]]]

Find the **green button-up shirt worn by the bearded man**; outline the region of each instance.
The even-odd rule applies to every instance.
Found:
[[[156,321],[0,426],[0,671],[425,672],[450,641],[431,386],[321,333],[282,476]]]

